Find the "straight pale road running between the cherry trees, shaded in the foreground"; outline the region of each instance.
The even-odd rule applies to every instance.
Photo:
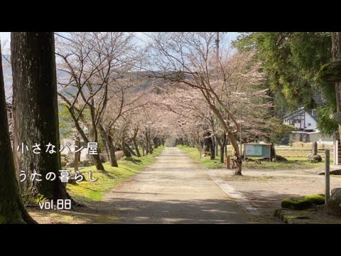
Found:
[[[256,223],[180,149],[104,196],[118,223]]]

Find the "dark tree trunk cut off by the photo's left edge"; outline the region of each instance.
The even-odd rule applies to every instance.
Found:
[[[0,44],[0,224],[36,223],[23,206],[14,169]]]

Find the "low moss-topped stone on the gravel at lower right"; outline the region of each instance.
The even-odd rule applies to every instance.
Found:
[[[293,210],[303,210],[310,206],[320,205],[325,203],[325,195],[308,195],[301,198],[284,198],[281,201],[282,208]]]

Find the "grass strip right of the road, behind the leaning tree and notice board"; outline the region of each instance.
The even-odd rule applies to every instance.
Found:
[[[206,168],[208,169],[224,169],[226,168],[226,164],[220,164],[220,156],[215,156],[215,160],[210,160],[210,156],[205,156],[200,158],[200,153],[197,149],[191,148],[188,146],[177,146],[179,149],[185,151],[188,156],[192,159],[200,161]],[[279,150],[278,150],[279,151]],[[325,163],[322,161],[321,163],[311,163],[307,158],[306,155],[309,151],[304,151],[303,153],[299,154],[296,152],[295,149],[287,149],[286,151],[278,152],[281,156],[284,156],[288,159],[286,162],[269,162],[269,161],[261,161],[261,164],[254,162],[254,161],[243,161],[243,169],[312,169],[320,166],[324,166]],[[229,156],[232,155],[231,150],[227,151]],[[320,154],[320,152],[319,152]],[[305,156],[303,156],[305,155]],[[320,154],[323,156],[323,154]],[[256,157],[251,159],[257,159]],[[259,159],[259,158],[258,158]]]

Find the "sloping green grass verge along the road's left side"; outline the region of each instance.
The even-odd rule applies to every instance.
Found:
[[[163,149],[164,147],[160,146],[148,156],[123,157],[118,161],[119,167],[112,167],[108,162],[104,163],[105,172],[97,171],[95,166],[82,168],[80,172],[85,176],[86,181],[79,182],[77,185],[67,184],[67,192],[76,201],[100,201],[104,194],[118,183],[152,164]],[[97,181],[89,181],[89,171],[92,171],[92,179],[98,178]]]

